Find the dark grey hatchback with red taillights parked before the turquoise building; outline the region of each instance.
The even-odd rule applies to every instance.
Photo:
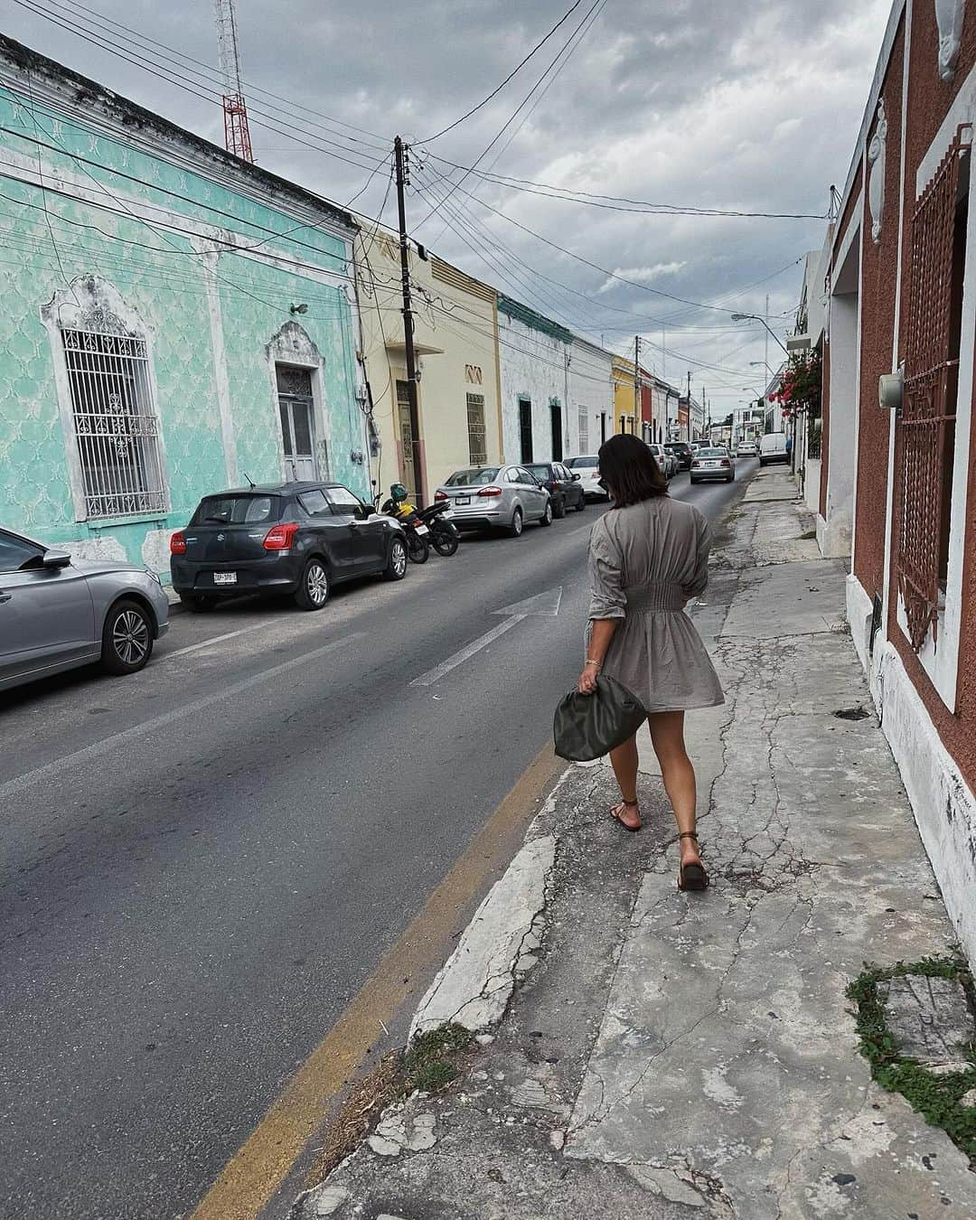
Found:
[[[242,593],[321,610],[342,581],[401,581],[406,539],[399,521],[340,483],[271,483],[205,495],[170,539],[170,571],[190,610]]]

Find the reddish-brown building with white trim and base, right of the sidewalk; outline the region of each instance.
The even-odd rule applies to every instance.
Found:
[[[821,549],[850,564],[854,645],[971,960],[974,123],[976,0],[895,0],[819,264],[826,321],[817,505]],[[892,373],[888,405],[878,405],[880,378]]]

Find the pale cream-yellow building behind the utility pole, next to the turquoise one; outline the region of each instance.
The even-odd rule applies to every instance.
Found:
[[[501,461],[497,294],[411,245],[420,372],[415,428],[407,396],[399,240],[368,223],[364,221],[357,243],[356,282],[361,356],[375,426],[372,478],[383,495],[390,483],[401,482],[428,504],[453,471]]]

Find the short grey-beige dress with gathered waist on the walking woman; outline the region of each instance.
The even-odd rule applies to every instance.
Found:
[[[603,672],[648,711],[725,703],[715,666],[684,612],[709,581],[711,527],[692,504],[658,495],[610,509],[589,539],[594,619],[622,620]],[[587,643],[590,627],[587,627]]]

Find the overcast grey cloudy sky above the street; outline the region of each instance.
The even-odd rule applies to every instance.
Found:
[[[61,21],[89,28],[93,21],[122,22],[196,60],[217,59],[210,0],[29,2]],[[588,17],[593,0],[582,0],[497,98],[423,144],[494,89],[570,2],[237,0],[255,156],[345,204],[383,155],[375,145],[401,133],[416,142],[421,162],[409,199],[418,240],[577,332],[598,342],[604,336],[609,348],[632,351],[639,331],[644,364],[672,382],[683,382],[691,368],[693,390],[708,387],[719,417],[759,392],[762,370],[749,362],[765,356],[762,327],[736,325],[728,314],[647,289],[760,314],[769,293],[771,325],[782,334],[802,282],[800,265],[789,265],[822,244],[822,222],[636,215],[503,189],[475,176],[447,209],[425,220],[444,190],[443,176],[460,177],[436,157],[472,165],[569,40],[558,71],[544,76],[479,167],[634,200],[822,214],[830,184],[842,188],[847,176],[889,2],[601,0]],[[222,143],[216,102],[90,45],[16,0],[5,2],[4,28]],[[92,32],[109,37],[105,28]],[[123,38],[132,35],[116,30],[111,40],[135,54]],[[155,54],[171,52],[156,48]],[[176,71],[198,77],[199,92],[214,88],[199,82],[200,67]],[[304,146],[303,139],[317,146]],[[375,216],[387,178],[381,167],[355,207]],[[644,287],[584,266],[478,200]],[[384,217],[395,220],[392,196]],[[770,340],[770,364],[780,355]]]

